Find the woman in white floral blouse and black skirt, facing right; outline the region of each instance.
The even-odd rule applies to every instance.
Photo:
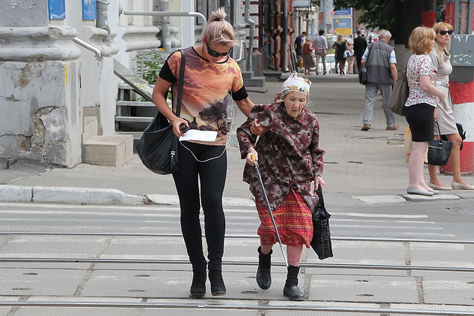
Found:
[[[435,31],[427,27],[417,27],[408,39],[412,55],[406,67],[406,79],[410,93],[405,103],[405,118],[411,130],[412,152],[408,162],[408,194],[433,196],[438,193],[431,189],[423,177],[423,163],[428,150],[428,141],[433,139],[436,112],[436,97],[443,101],[445,93],[436,88],[435,71],[431,52]]]

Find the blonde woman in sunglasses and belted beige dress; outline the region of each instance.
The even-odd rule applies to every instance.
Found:
[[[433,27],[433,30],[436,32],[435,45],[429,56],[433,63],[433,69],[436,72],[436,87],[446,94],[443,101],[436,100],[439,130],[438,126],[435,125],[435,138],[440,139],[440,135],[446,135],[448,141],[453,143],[451,154],[449,155],[449,162],[453,171],[453,181],[451,186],[442,184],[437,177],[437,166],[429,164],[430,182],[428,182],[428,186],[434,190],[474,190],[474,186],[464,181],[461,177],[460,147],[463,139],[459,135],[456,121],[454,120],[453,104],[448,89],[449,75],[453,71],[453,67],[449,61],[451,54],[446,50],[446,46],[451,40],[453,26],[445,22],[438,22]]]

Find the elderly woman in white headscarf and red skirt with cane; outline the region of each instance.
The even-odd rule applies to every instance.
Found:
[[[310,80],[293,73],[283,83],[282,101],[256,105],[247,121],[237,129],[241,158],[247,162],[243,180],[250,184],[261,221],[257,284],[264,290],[270,288],[270,257],[277,237],[252,167],[252,155],[259,162],[281,242],[287,245],[289,266],[283,295],[293,301],[304,300],[298,287],[301,252],[303,245],[309,248],[313,239],[311,210],[317,204],[314,191],[325,184],[321,177],[324,151],[319,148],[319,125],[315,114],[305,109],[310,85]],[[269,129],[258,142],[250,132],[255,119]],[[315,182],[314,191],[312,181]]]

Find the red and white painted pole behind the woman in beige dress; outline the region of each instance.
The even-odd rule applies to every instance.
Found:
[[[454,26],[454,33],[472,34],[473,0],[447,0],[445,21]],[[468,32],[469,30],[469,32]],[[474,47],[470,47],[474,49]],[[455,66],[455,65],[453,65]],[[472,65],[474,67],[474,65]],[[453,101],[454,118],[456,122],[463,124],[466,130],[466,139],[464,140],[463,150],[461,151],[461,173],[474,173],[474,76],[470,82],[449,82],[449,92]],[[452,172],[448,164],[440,168],[441,172]]]

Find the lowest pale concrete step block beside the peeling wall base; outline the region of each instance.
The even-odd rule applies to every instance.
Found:
[[[84,163],[118,167],[133,157],[132,135],[101,135],[82,144]]]

